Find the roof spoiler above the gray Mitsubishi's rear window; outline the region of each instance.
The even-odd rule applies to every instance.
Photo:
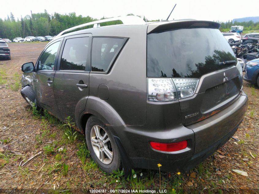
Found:
[[[172,20],[168,22],[164,22],[163,24],[153,23],[148,25],[147,34],[165,31],[169,29],[177,29],[177,28],[214,28],[219,29],[221,24],[215,21],[197,21],[197,20]]]

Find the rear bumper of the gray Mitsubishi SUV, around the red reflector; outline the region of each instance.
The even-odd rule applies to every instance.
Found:
[[[124,152],[121,155],[127,155],[131,167],[158,169],[160,163],[163,171],[186,171],[208,158],[232,137],[246,113],[247,101],[243,92],[226,109],[187,127],[149,132],[144,127],[112,126],[111,130],[120,139],[122,147],[119,149]],[[162,152],[150,146],[151,141],[173,143],[182,140],[187,140],[188,146],[176,152]]]

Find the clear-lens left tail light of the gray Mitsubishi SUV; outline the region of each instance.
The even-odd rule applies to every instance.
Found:
[[[196,78],[147,78],[147,100],[168,102],[191,97],[198,83]]]

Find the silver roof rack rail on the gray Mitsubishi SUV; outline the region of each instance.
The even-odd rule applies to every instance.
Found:
[[[72,31],[72,30],[75,30],[75,29],[78,29],[78,28],[82,28],[82,27],[85,27],[85,26],[89,26],[89,25],[93,25],[93,28],[99,28],[99,27],[101,27],[100,23],[104,23],[104,22],[108,22],[108,21],[116,21],[116,20],[122,21],[122,23],[124,25],[144,25],[144,24],[146,24],[146,22],[138,16],[112,17],[112,18],[107,18],[107,19],[98,20],[98,21],[92,21],[92,22],[89,22],[89,23],[86,23],[86,24],[74,26],[72,28],[69,28],[69,29],[66,29],[66,30],[60,32],[56,37],[63,35],[65,32],[69,32],[69,31]]]

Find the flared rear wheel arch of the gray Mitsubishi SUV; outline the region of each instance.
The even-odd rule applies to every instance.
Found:
[[[125,125],[124,121],[120,115],[112,108],[111,105],[105,100],[101,100],[98,97],[89,96],[86,102],[86,107],[83,112],[75,113],[76,121],[82,129],[81,121],[85,114],[92,114],[97,116],[100,120],[104,122],[105,126],[121,126]]]

